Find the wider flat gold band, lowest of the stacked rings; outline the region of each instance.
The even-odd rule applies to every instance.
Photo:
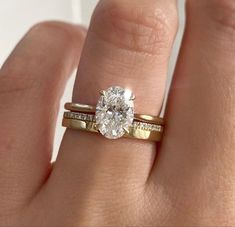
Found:
[[[78,129],[88,132],[99,133],[99,131],[96,129],[96,123],[92,121],[64,118],[62,125],[70,129]],[[161,141],[162,133],[163,133],[163,127],[161,127],[161,130],[156,131],[156,130],[145,130],[142,128],[138,127],[136,128],[131,126],[129,128],[129,131],[126,132],[126,134],[124,135],[124,137],[142,139],[148,141]]]

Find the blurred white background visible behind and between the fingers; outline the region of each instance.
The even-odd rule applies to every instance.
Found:
[[[4,60],[10,54],[19,39],[33,24],[44,20],[62,20],[88,26],[91,14],[97,2],[98,0],[1,0],[0,66],[3,64]],[[180,27],[169,65],[167,90],[169,89],[184,30],[184,0],[179,0],[179,15]],[[56,158],[64,133],[64,129],[61,127],[63,104],[71,100],[74,78],[75,75],[73,75],[68,82],[66,91],[61,100],[61,108],[55,135],[53,159]]]

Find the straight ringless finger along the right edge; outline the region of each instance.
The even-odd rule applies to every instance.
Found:
[[[202,215],[202,223],[196,225],[205,225],[202,207],[215,208],[213,215],[220,212],[216,207],[223,206],[226,213],[222,195],[234,192],[229,183],[235,171],[234,7],[230,0],[187,3],[188,21],[169,98],[168,127],[152,177],[169,195],[178,196],[170,198],[176,207],[179,194],[186,198],[180,202],[182,213],[187,207],[189,216],[191,212]],[[206,197],[208,191],[220,201]]]

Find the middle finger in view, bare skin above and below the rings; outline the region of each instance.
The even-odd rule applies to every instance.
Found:
[[[174,0],[101,1],[88,32],[73,101],[96,105],[100,90],[119,85],[135,93],[136,112],[158,115],[176,30]],[[61,193],[71,190],[81,197],[94,196],[86,194],[91,184],[93,191],[102,188],[104,193],[142,188],[155,152],[155,143],[112,141],[68,130],[50,178],[60,190],[52,196],[62,198]]]

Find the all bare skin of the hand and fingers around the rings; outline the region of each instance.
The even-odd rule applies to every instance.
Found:
[[[30,29],[0,70],[0,226],[235,225],[235,2],[188,0],[186,15],[161,144],[67,130],[53,168],[78,64],[74,102],[120,85],[136,112],[159,114],[177,7],[101,0],[87,35],[61,22]]]

